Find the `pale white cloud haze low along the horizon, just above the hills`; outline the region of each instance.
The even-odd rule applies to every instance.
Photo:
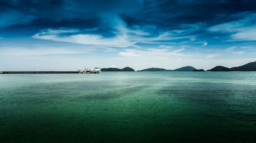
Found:
[[[230,52],[229,56],[214,54],[186,53],[184,47],[173,48],[148,48],[148,49],[123,49],[123,53],[118,57],[113,54],[101,56],[101,53],[94,51],[80,51],[86,49],[77,48],[0,48],[0,56],[5,62],[0,64],[1,70],[77,70],[84,66],[95,67],[126,67],[141,70],[151,67],[165,69],[176,69],[183,66],[193,66],[197,69],[210,69],[217,65],[233,67],[238,64],[246,64],[256,61],[255,58],[246,57],[237,60],[230,60],[234,56]],[[174,49],[175,48],[175,49]],[[121,49],[119,49],[121,50]],[[76,54],[83,54],[77,56]],[[97,54],[96,54],[97,53]],[[74,55],[71,55],[74,54]],[[225,53],[223,53],[225,54]],[[91,58],[89,58],[91,55]],[[134,56],[135,55],[135,56]],[[215,58],[216,56],[220,56]],[[85,58],[88,57],[88,58]],[[241,57],[241,56],[240,56]],[[207,59],[207,60],[206,60]],[[125,61],[125,62],[124,62]]]

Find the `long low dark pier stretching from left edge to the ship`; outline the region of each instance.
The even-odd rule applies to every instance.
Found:
[[[79,73],[79,71],[2,71],[0,74],[53,74],[53,73]]]

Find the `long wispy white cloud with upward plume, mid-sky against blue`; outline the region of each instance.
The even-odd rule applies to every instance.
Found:
[[[105,16],[105,15],[104,15]],[[103,18],[105,19],[105,17]],[[104,37],[100,33],[91,33],[94,29],[80,30],[76,28],[58,28],[45,29],[33,35],[33,38],[52,40],[59,42],[71,42],[87,45],[105,45],[113,47],[138,47],[137,43],[166,43],[171,40],[190,39],[195,41],[194,32],[201,28],[201,23],[197,24],[181,24],[181,30],[166,30],[164,32],[155,32],[155,26],[127,26],[118,15],[111,15],[111,18],[105,20],[114,36]],[[98,30],[98,29],[95,29]],[[207,45],[206,43],[203,43]]]

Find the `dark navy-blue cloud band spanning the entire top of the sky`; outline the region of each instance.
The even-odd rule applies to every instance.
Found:
[[[181,24],[205,23],[207,26],[242,19],[239,13],[254,13],[256,1],[29,1],[0,0],[0,28],[9,26],[103,27],[112,16],[128,26],[155,25],[175,30]],[[234,16],[237,15],[237,16]]]

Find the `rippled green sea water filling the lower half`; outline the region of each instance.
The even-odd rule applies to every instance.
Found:
[[[256,72],[0,74],[0,142],[255,142]]]

